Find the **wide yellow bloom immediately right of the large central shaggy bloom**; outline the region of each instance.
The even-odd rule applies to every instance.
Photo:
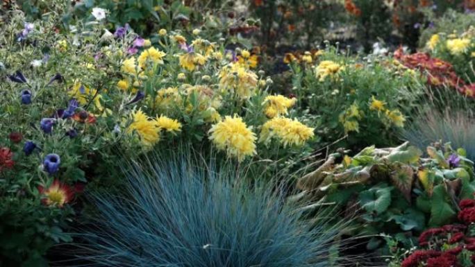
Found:
[[[259,141],[265,144],[276,138],[285,146],[302,146],[314,136],[314,129],[310,128],[297,119],[276,117],[264,123],[260,130]]]

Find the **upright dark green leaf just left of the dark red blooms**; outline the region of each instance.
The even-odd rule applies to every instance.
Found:
[[[431,198],[431,219],[428,223],[429,226],[434,227],[450,223],[456,215],[456,212],[449,204],[449,201],[449,196],[447,195],[443,184],[434,187]]]

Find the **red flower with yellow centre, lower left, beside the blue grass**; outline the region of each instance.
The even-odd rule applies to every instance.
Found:
[[[58,207],[63,207],[63,205],[69,203],[74,196],[74,189],[59,180],[54,180],[46,189],[39,186],[38,191],[44,196],[42,202],[48,206],[57,205]]]

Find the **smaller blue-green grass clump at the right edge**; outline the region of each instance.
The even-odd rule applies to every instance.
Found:
[[[439,140],[451,142],[453,148],[464,148],[467,158],[475,160],[475,117],[469,110],[425,112],[406,128],[403,138],[419,148]]]

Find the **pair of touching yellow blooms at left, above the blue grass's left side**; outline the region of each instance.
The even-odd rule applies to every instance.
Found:
[[[151,148],[160,141],[160,130],[167,132],[181,131],[181,123],[165,116],[156,119],[149,118],[142,110],[137,110],[132,114],[132,123],[127,128],[127,133],[136,132],[144,148]]]

